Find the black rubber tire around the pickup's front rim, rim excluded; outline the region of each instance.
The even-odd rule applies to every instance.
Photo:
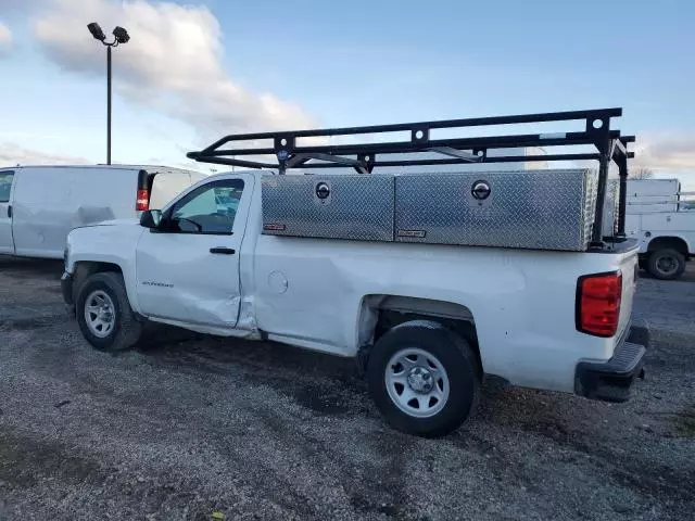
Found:
[[[96,291],[102,291],[109,295],[115,308],[113,327],[103,338],[92,333],[85,317],[86,301]],[[103,272],[89,277],[78,290],[76,315],[83,335],[92,347],[99,351],[127,350],[138,342],[142,333],[142,323],[132,313],[121,274]]]

